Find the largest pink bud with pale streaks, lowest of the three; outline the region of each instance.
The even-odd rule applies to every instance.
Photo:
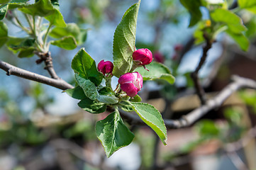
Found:
[[[118,83],[128,96],[134,97],[143,87],[143,77],[138,72],[126,73],[119,77]]]

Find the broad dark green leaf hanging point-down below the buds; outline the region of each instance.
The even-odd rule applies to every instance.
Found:
[[[110,157],[121,147],[129,145],[134,138],[133,132],[130,132],[123,124],[118,111],[96,123],[96,135],[101,141],[107,157]]]

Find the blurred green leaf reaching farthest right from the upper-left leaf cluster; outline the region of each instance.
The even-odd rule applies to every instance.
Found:
[[[65,36],[72,35],[76,39],[77,44],[81,45],[87,39],[87,30],[79,28],[76,23],[68,23],[67,27],[64,28],[53,28],[49,35],[52,38],[63,38]]]

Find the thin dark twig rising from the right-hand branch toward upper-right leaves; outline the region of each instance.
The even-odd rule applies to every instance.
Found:
[[[206,40],[206,46],[204,46],[203,55],[201,57],[201,60],[198,64],[198,66],[196,67],[196,70],[191,73],[191,78],[194,81],[194,86],[196,88],[196,93],[198,94],[202,105],[204,105],[206,103],[206,95],[205,95],[203,87],[200,84],[198,74],[199,74],[199,70],[201,69],[201,67],[204,65],[204,62],[206,61],[207,52],[208,52],[208,50],[211,49],[211,45],[212,45],[212,41],[207,38],[207,35],[204,35],[204,38]]]

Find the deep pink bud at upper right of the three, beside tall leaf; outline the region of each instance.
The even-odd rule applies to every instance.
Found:
[[[147,48],[141,48],[133,52],[133,60],[138,61],[139,65],[150,64],[152,58],[152,52]]]

